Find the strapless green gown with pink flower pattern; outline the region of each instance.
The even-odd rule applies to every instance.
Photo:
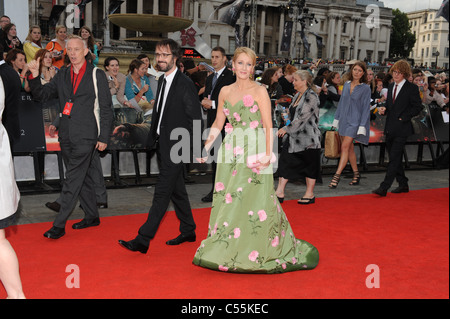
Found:
[[[197,249],[197,258],[201,260],[204,254],[203,257],[207,260],[210,249],[207,250],[206,247],[211,245],[207,240],[210,240],[213,245],[221,245],[215,250],[217,260],[212,260],[216,262],[215,269],[219,271],[240,272],[241,266],[251,271],[260,268],[261,271],[270,269],[273,272],[306,268],[302,263],[302,251],[297,250],[303,243],[295,240],[275,193],[265,193],[262,190],[269,183],[268,179],[262,171],[249,169],[245,163],[246,156],[252,154],[253,148],[248,146],[253,142],[249,140],[242,143],[239,140],[240,129],[253,129],[259,134],[258,128],[262,122],[257,101],[251,95],[245,95],[242,102],[233,105],[226,102],[223,112],[228,118],[225,132],[231,133],[231,136],[224,138],[222,147],[224,158],[232,163],[226,162],[227,171],[223,170],[216,176],[212,209],[221,211],[218,215],[211,215],[216,217],[208,225],[208,238]],[[246,196],[243,196],[244,192]],[[262,196],[252,198],[253,192],[264,192],[266,199]],[[242,218],[237,218],[237,214],[241,214]],[[246,243],[254,245],[251,250],[243,248]],[[293,246],[290,251],[294,254],[286,253],[291,244]],[[227,253],[217,253],[222,249],[224,252],[228,249]]]

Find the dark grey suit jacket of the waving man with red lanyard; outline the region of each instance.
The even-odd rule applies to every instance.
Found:
[[[87,63],[77,92],[72,98],[70,116],[60,115],[59,140],[72,143],[108,143],[112,132],[112,99],[105,72],[97,69],[98,101],[100,106],[100,134],[94,116],[95,91],[92,72],[94,67]],[[29,81],[33,98],[39,101],[58,98],[59,113],[62,114],[72,93],[70,67],[61,68],[53,79],[41,84],[39,77]]]

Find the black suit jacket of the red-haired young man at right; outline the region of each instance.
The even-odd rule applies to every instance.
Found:
[[[391,83],[388,87],[384,133],[390,136],[405,137],[414,134],[411,119],[422,110],[422,100],[417,85],[406,81],[400,92],[397,93],[395,103],[392,103],[394,84]]]

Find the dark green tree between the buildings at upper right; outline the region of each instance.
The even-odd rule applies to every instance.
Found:
[[[412,51],[416,43],[416,37],[411,32],[408,16],[398,9],[392,10],[394,19],[392,20],[391,41],[389,55],[391,57],[406,58]]]

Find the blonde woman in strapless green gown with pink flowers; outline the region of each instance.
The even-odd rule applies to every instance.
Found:
[[[271,105],[266,88],[252,80],[256,55],[240,47],[232,64],[236,82],[222,88],[205,143],[209,151],[228,119],[217,157],[209,234],[193,263],[238,273],[313,269],[319,253],[295,238],[273,188]]]

